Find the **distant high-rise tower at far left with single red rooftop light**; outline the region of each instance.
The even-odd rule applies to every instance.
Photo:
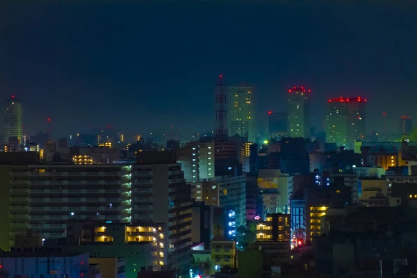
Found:
[[[22,144],[22,102],[12,96],[5,101],[4,106],[3,142],[9,144],[10,138],[13,138],[13,141],[17,141],[17,145]]]

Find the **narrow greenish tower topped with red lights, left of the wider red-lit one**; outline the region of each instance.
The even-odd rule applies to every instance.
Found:
[[[288,136],[308,138],[310,134],[310,99],[304,87],[288,90]]]

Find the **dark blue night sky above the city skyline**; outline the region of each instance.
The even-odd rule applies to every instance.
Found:
[[[0,4],[0,92],[24,100],[26,133],[47,117],[56,135],[211,130],[218,74],[256,87],[263,122],[293,85],[313,90],[318,130],[342,95],[368,98],[369,127],[417,116],[414,2],[74,2]]]

